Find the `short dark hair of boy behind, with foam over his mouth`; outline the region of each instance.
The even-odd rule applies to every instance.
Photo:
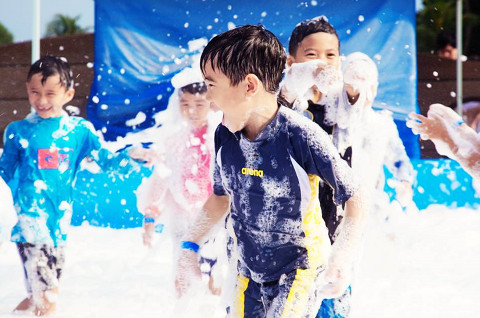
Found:
[[[290,40],[288,41],[288,53],[292,56],[295,56],[303,39],[310,34],[319,32],[335,35],[338,40],[338,50],[340,51],[340,38],[338,37],[337,31],[333,25],[328,23],[325,17],[317,17],[304,20],[297,24],[290,35]]]

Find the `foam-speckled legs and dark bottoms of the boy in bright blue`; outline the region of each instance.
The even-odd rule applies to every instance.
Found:
[[[64,249],[46,245],[19,243],[29,297],[15,308],[32,311],[37,316],[55,310],[59,279],[65,262]]]

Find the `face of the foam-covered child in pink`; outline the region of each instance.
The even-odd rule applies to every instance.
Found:
[[[207,123],[210,101],[207,94],[180,93],[180,112],[190,125],[199,128]]]

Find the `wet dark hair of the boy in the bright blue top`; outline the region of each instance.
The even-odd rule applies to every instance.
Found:
[[[47,78],[59,75],[60,84],[67,90],[73,88],[73,73],[70,65],[65,59],[58,56],[46,55],[32,64],[27,75],[27,82],[32,79],[35,74],[42,74],[42,85],[45,84]]]

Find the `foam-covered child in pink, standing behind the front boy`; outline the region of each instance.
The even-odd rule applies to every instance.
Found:
[[[130,152],[153,165],[152,175],[137,189],[137,207],[145,215],[144,244],[149,247],[160,216],[176,242],[213,191],[210,162],[218,122],[211,118],[207,87],[193,68],[177,74],[172,84],[176,89],[158,119],[162,126],[155,128],[153,146]]]

